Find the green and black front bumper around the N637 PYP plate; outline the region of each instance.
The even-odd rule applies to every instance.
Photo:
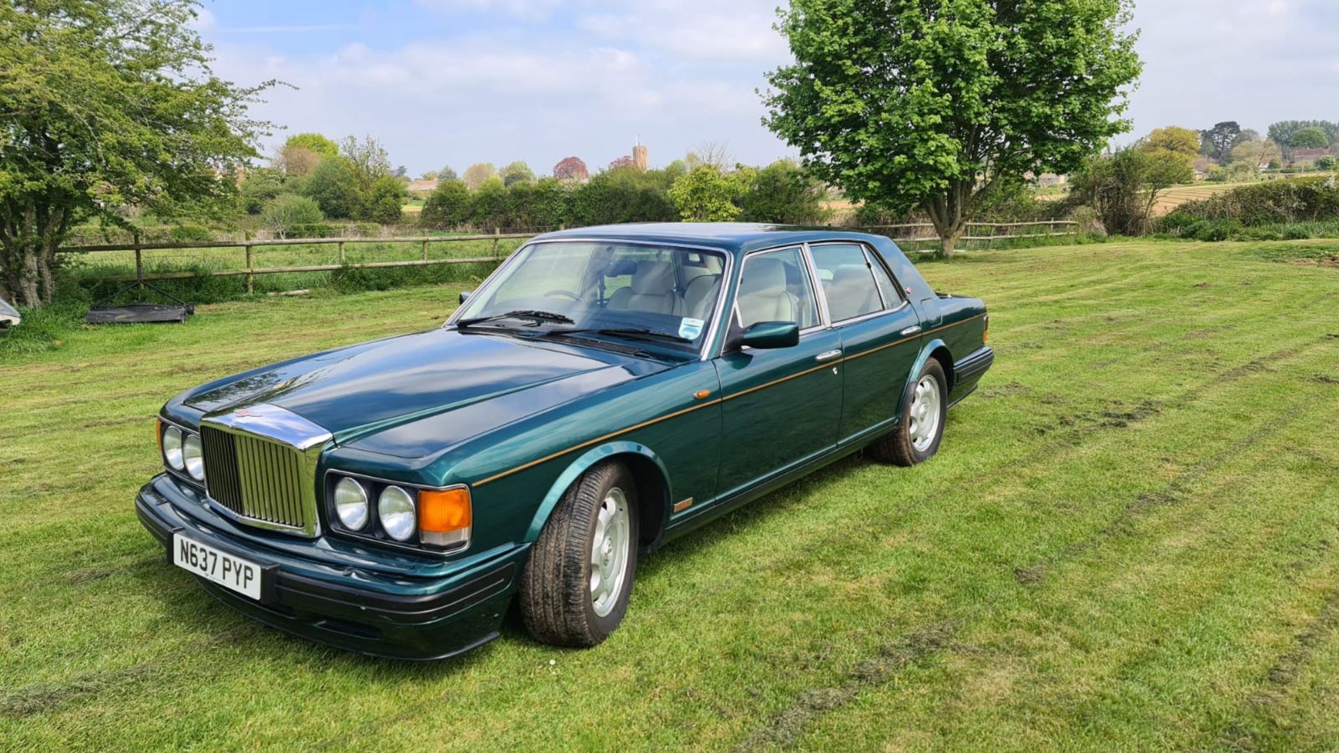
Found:
[[[264,603],[197,577],[229,607],[301,638],[392,659],[442,659],[497,638],[529,556],[529,547],[511,547],[427,576],[372,563],[366,549],[337,552],[303,543],[319,553],[304,557],[292,537],[244,531],[166,474],[139,490],[135,513],[163,544],[167,561],[173,533],[179,532],[262,567],[276,565]]]

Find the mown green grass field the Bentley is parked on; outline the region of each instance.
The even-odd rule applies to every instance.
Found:
[[[1339,749],[1330,257],[925,264],[987,299],[999,354],[937,458],[852,458],[671,544],[599,648],[513,626],[434,665],[232,614],[131,498],[175,391],[432,327],[454,288],[78,331],[0,360],[0,749]]]

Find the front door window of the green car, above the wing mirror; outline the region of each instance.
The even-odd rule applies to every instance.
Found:
[[[755,253],[739,277],[739,326],[794,322],[801,330],[818,324],[818,301],[798,248]]]

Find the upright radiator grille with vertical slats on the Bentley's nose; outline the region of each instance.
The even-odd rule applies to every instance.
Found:
[[[249,434],[202,425],[205,485],[210,498],[238,516],[273,525],[311,531],[315,505],[297,449]]]

